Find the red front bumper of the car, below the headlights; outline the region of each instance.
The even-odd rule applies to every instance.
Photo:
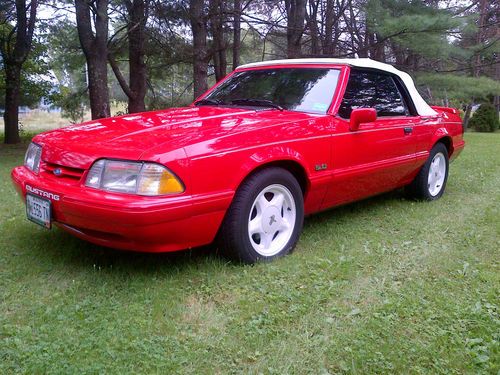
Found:
[[[234,192],[207,195],[144,197],[58,183],[16,167],[11,173],[19,195],[26,199],[41,190],[52,202],[52,220],[60,228],[89,242],[117,249],[166,252],[213,241]],[[47,195],[44,195],[47,197]]]

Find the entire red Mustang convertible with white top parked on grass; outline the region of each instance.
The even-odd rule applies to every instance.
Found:
[[[47,228],[148,252],[217,238],[252,263],[289,253],[304,215],[400,187],[439,198],[463,147],[457,111],[390,65],[267,61],[186,108],[39,134],[12,179]]]

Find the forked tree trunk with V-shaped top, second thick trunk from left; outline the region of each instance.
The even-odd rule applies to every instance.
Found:
[[[109,117],[108,0],[96,0],[93,7],[86,0],[75,0],[75,6],[78,38],[87,61],[92,119]],[[94,27],[92,27],[92,19]]]

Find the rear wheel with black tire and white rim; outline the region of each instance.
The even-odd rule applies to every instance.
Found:
[[[448,169],[448,149],[443,143],[436,143],[422,169],[406,187],[407,195],[428,201],[439,199],[446,188]]]

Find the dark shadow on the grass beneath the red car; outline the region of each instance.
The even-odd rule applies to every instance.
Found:
[[[376,215],[386,206],[401,200],[404,200],[403,193],[396,190],[329,209],[307,217],[304,232],[307,235],[309,231],[319,230],[325,223],[333,223],[339,229],[350,227],[352,222],[359,221],[361,216],[365,219],[368,216],[370,220],[370,216]],[[169,273],[169,270],[178,273],[188,268],[242,267],[241,264],[230,262],[219,256],[214,244],[177,252],[144,253],[93,245],[61,229],[40,230],[35,233],[32,233],[30,229],[25,229],[25,231],[32,240],[26,243],[22,240],[26,238],[26,235],[19,237],[18,245],[25,249],[24,253],[40,257],[56,268],[71,265],[75,268],[94,267],[127,273]]]

